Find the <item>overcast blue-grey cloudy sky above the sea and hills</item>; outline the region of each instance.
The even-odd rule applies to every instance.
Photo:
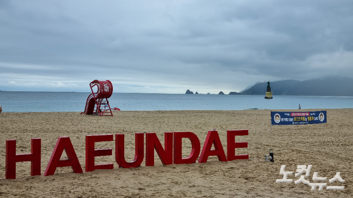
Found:
[[[240,92],[353,76],[352,0],[0,0],[0,90]]]

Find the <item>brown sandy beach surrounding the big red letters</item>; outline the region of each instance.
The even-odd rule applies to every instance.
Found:
[[[298,111],[298,110],[280,110]],[[302,112],[317,111],[313,109]],[[353,109],[328,109],[326,124],[272,126],[269,110],[244,111],[121,111],[114,117],[80,115],[78,112],[0,114],[0,197],[352,197],[353,195]],[[264,122],[265,121],[265,122]],[[262,125],[264,123],[264,125]],[[227,154],[227,130],[249,130],[236,141],[249,142],[248,148],[236,149],[249,154],[249,160],[220,162],[210,156],[206,163],[163,165],[155,152],[155,166],[118,168],[115,141],[97,142],[96,149],[112,148],[112,156],[95,157],[96,164],[113,163],[112,170],[85,172],[85,136],[125,134],[127,161],[135,154],[135,132],[155,132],[164,146],[164,132],[193,132],[201,142],[208,131],[216,129]],[[84,173],[71,167],[57,168],[44,177],[44,171],[60,136],[69,136]],[[5,179],[5,140],[17,140],[17,154],[30,153],[30,139],[42,140],[42,176],[30,176],[30,162],[17,163],[16,179]],[[115,139],[115,137],[114,137]],[[266,162],[268,149],[274,150],[274,163]],[[188,156],[189,140],[183,140],[183,157]],[[62,155],[65,158],[66,154]],[[256,159],[250,159],[256,158]],[[305,184],[294,184],[297,165],[312,165],[318,177],[327,177],[327,186],[345,186],[344,190],[310,191]],[[292,183],[282,179],[281,165],[293,171]],[[344,183],[330,184],[341,172]]]

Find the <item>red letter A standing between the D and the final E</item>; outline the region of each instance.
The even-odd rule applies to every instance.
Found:
[[[211,150],[212,144],[214,145],[214,150]],[[226,154],[224,154],[224,150],[222,147],[221,140],[219,139],[217,131],[209,131],[205,140],[205,144],[203,144],[203,148],[201,151],[200,158],[198,159],[198,163],[207,162],[208,156],[217,155],[218,160],[222,162],[227,161]]]

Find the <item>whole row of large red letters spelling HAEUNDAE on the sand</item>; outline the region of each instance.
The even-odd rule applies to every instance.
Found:
[[[207,162],[208,156],[218,156],[220,161],[232,161],[235,159],[249,159],[249,155],[236,155],[235,148],[246,148],[248,142],[235,142],[236,135],[248,135],[248,130],[227,131],[227,157],[224,153],[221,140],[217,131],[209,131],[203,145],[198,163]],[[156,150],[164,165],[191,164],[196,162],[201,145],[198,137],[192,132],[165,132],[165,146],[163,148],[156,133],[146,133],[146,166],[154,166]],[[182,158],[181,140],[188,138],[191,141],[191,153]],[[115,134],[115,161],[119,167],[136,168],[144,159],[144,133],[135,133],[135,158],[127,162],[124,156],[124,134]],[[94,157],[112,155],[112,149],[94,149],[94,143],[99,141],[113,141],[113,134],[86,135],[86,172],[96,169],[113,169],[113,164],[94,165]],[[214,150],[211,150],[212,144]],[[68,159],[60,159],[66,152]],[[6,140],[6,179],[16,178],[16,162],[31,162],[31,176],[41,175],[41,139],[31,139],[31,153],[16,154],[16,140]],[[59,137],[52,156],[50,157],[44,176],[54,175],[57,167],[71,166],[75,173],[83,173],[75,149],[70,137]]]

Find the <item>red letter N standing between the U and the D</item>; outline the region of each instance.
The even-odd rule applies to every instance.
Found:
[[[173,132],[164,133],[164,147],[159,141],[156,133],[146,133],[146,166],[155,165],[155,149],[164,165],[173,164]]]

